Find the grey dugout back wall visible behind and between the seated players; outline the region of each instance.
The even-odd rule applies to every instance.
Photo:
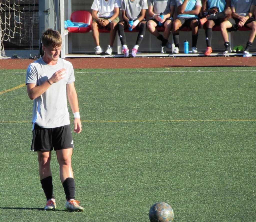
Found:
[[[67,0],[65,0],[67,1]],[[91,10],[93,0],[86,0],[86,1],[79,1],[79,0],[72,0],[72,12],[76,10]],[[66,9],[66,8],[65,8]],[[67,9],[66,9],[67,12]],[[120,17],[121,18],[121,17]],[[69,19],[67,17],[67,13],[65,15],[65,20]],[[235,38],[233,38],[233,45],[243,45],[245,47],[246,42],[248,41],[248,37],[250,31],[243,31],[243,32],[235,32]],[[72,52],[69,53],[94,53],[95,43],[92,38],[92,32],[88,33],[70,33],[72,35]],[[114,44],[114,51],[116,51],[117,46],[117,38]],[[129,48],[132,48],[136,42],[137,33],[127,33],[126,32],[126,41]],[[183,50],[183,41],[187,39],[189,41],[189,46],[191,48],[192,38],[191,32],[180,32],[180,50]],[[172,42],[172,33],[169,37],[169,42]],[[147,30],[145,37],[139,47],[138,51],[141,52],[159,52],[160,51],[160,41],[156,39],[150,32]],[[108,33],[100,33],[100,45],[105,50],[109,44],[109,34]],[[205,51],[206,49],[206,42],[205,42],[205,31],[204,29],[199,29],[198,35],[198,43],[197,43],[198,50]],[[212,38],[212,48],[213,50],[217,51],[224,51],[224,41],[222,39],[221,33],[219,31],[213,32]],[[256,51],[256,45],[254,44],[251,51]],[[168,51],[167,51],[168,52]]]

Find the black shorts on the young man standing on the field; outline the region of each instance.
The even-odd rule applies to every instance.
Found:
[[[35,124],[31,150],[48,152],[67,148],[74,148],[70,125],[47,129]]]

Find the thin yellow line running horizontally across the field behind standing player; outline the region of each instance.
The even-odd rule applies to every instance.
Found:
[[[81,120],[84,123],[146,123],[146,122],[253,122],[256,119],[163,119],[163,120]],[[8,120],[0,123],[31,123],[31,120]]]

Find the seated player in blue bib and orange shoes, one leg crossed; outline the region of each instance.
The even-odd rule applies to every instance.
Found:
[[[201,25],[205,24],[206,26],[205,36],[207,48],[205,55],[209,56],[212,53],[212,28],[215,25],[220,25],[223,21],[226,21],[230,18],[230,0],[203,0],[202,14],[205,17],[201,18],[199,22]]]

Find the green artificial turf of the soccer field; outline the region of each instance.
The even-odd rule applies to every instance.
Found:
[[[72,167],[84,212],[69,213],[55,154],[57,210],[42,210],[26,87],[1,94],[26,70],[0,70],[0,221],[146,222],[159,201],[176,222],[254,221],[255,71],[75,70],[83,131]]]

